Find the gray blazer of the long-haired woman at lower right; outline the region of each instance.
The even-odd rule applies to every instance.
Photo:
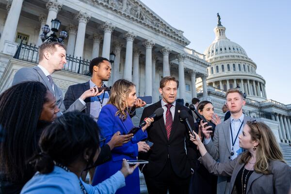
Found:
[[[227,194],[235,194],[235,179],[244,163],[240,163],[242,155],[231,162],[217,163],[209,153],[198,160],[209,170],[218,176],[231,176]],[[280,161],[271,161],[269,175],[253,172],[247,182],[247,194],[288,194],[291,189],[291,168],[288,164]],[[217,193],[220,194],[220,193]]]

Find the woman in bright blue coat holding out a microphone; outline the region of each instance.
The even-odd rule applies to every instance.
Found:
[[[106,143],[111,140],[115,132],[127,134],[133,128],[129,110],[136,98],[135,86],[132,82],[118,80],[113,84],[108,103],[101,109],[97,122],[101,134],[106,138]],[[115,174],[121,168],[122,159],[136,160],[139,151],[146,152],[149,149],[145,142],[140,141],[147,137],[146,128],[152,121],[153,119],[147,118],[146,125],[138,130],[128,143],[112,150],[112,160],[96,168],[93,185]],[[126,186],[118,189],[116,194],[140,193],[138,169],[125,179],[125,183]]]

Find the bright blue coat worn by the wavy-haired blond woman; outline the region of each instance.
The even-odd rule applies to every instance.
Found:
[[[130,129],[133,128],[131,118],[128,114],[125,121],[116,115],[117,108],[112,104],[105,105],[99,114],[98,126],[101,131],[101,135],[106,138],[106,143],[109,142],[113,134],[120,131],[121,134],[127,134]],[[122,159],[136,160],[138,155],[137,143],[147,137],[146,131],[139,130],[133,138],[126,144],[120,147],[115,147],[112,150],[112,160],[99,165],[96,168],[95,175],[93,178],[93,185],[96,185],[103,180],[111,177],[122,167]],[[126,186],[118,189],[116,194],[139,194],[140,183],[139,183],[139,172],[136,168],[133,174],[129,175],[125,179]]]

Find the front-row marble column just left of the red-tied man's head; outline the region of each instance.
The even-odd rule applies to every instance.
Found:
[[[152,40],[146,40],[144,46],[146,47],[146,81],[145,81],[145,95],[152,96],[152,49],[155,43]]]

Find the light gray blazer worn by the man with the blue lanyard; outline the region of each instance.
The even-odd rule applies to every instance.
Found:
[[[243,126],[252,118],[244,115]],[[219,162],[228,162],[230,159],[231,145],[230,145],[230,118],[221,124],[217,125],[214,131],[213,139],[205,145],[207,151],[214,160]],[[229,190],[229,177],[219,176],[217,179],[217,194],[227,194]]]

